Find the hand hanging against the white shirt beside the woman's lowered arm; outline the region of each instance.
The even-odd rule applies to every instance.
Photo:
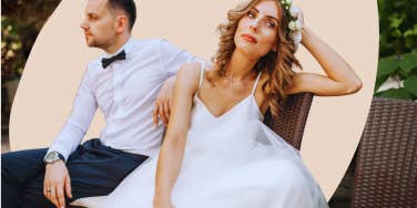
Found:
[[[153,123],[155,125],[159,124],[159,119],[162,119],[165,125],[170,119],[175,80],[176,76],[167,79],[157,94],[155,108],[153,110]]]

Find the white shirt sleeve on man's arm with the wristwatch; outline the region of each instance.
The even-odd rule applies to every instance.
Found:
[[[85,135],[96,111],[98,103],[92,89],[91,74],[85,71],[72,111],[67,123],[48,149],[55,150],[68,160],[69,155],[75,150]]]

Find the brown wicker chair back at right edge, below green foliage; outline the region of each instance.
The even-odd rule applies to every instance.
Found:
[[[416,102],[374,97],[358,147],[352,207],[417,207]]]

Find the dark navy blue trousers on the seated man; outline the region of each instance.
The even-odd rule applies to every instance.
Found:
[[[43,196],[47,148],[1,155],[1,207],[54,207]],[[109,195],[134,168],[148,158],[104,146],[98,138],[79,145],[67,162],[73,198]]]

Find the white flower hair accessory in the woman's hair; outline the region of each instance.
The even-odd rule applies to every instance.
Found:
[[[296,6],[293,6],[293,0],[282,0],[285,13],[289,17],[288,29],[291,37],[294,41],[295,50],[298,49],[298,44],[302,42],[302,22],[298,20],[298,13],[301,12]]]

